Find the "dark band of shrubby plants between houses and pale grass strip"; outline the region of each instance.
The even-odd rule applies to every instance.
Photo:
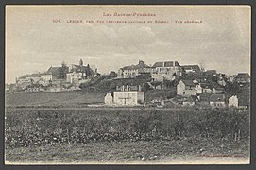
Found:
[[[6,146],[249,138],[249,112],[238,110],[7,110]]]

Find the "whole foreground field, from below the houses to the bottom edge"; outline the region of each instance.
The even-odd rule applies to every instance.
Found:
[[[249,111],[7,109],[5,146],[9,163],[245,163]]]

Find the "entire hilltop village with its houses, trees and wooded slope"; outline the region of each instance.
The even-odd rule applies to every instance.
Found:
[[[7,93],[56,93],[88,91],[105,93],[104,103],[91,106],[208,106],[249,108],[250,76],[227,76],[199,65],[158,61],[152,65],[139,60],[117,72],[101,75],[80,59],[78,64],[49,67],[39,74],[16,78],[6,85]]]

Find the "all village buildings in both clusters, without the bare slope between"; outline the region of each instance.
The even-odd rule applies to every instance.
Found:
[[[212,107],[247,108],[247,102],[244,102],[245,97],[239,94],[230,95],[230,93],[225,92],[227,83],[236,82],[240,85],[250,83],[250,76],[247,73],[226,76],[217,73],[216,70],[204,71],[198,65],[181,66],[178,61],[158,61],[151,66],[145,64],[143,60],[139,60],[136,65],[120,68],[115,78],[137,78],[142,75],[150,76],[150,81],[146,82],[146,85],[153,89],[162,89],[162,84],[166,81],[177,81],[175,83],[176,96],[168,100],[158,101],[162,106],[165,103],[172,103],[183,106],[198,104]],[[97,69],[92,69],[89,64],[85,66],[82,59],[79,60],[78,64],[69,66],[63,61],[60,67],[51,66],[42,74],[16,78],[16,83],[7,86],[6,89],[15,92],[81,90],[81,83],[89,82],[96,76],[99,76]],[[157,82],[160,84],[156,85]],[[113,93],[106,94],[104,102],[107,106],[145,105],[144,92],[140,85],[117,86]]]

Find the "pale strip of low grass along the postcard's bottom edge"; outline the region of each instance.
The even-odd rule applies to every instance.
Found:
[[[19,147],[6,152],[9,163],[248,163],[247,146],[198,139],[101,142]],[[236,148],[236,149],[234,149]],[[200,150],[205,149],[203,153]]]

